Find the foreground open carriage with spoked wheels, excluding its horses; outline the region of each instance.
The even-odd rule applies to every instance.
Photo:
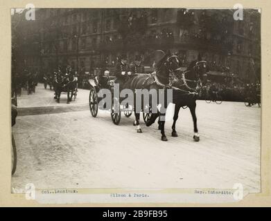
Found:
[[[138,74],[141,75],[141,74]],[[118,125],[121,121],[121,113],[125,115],[125,117],[130,117],[133,113],[134,106],[130,104],[121,105],[122,100],[119,97],[114,96],[114,81],[116,77],[114,76],[100,76],[94,77],[94,79],[89,79],[90,91],[89,91],[89,110],[92,117],[96,117],[98,114],[98,109],[104,109],[110,111],[112,122]],[[104,102],[102,102],[103,97],[98,96],[103,95],[103,90],[110,90],[112,96],[111,106],[106,106]],[[150,112],[143,112],[143,119],[146,123],[150,118]]]

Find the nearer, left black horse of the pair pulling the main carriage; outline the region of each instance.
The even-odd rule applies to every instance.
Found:
[[[146,75],[146,74],[141,74],[141,75],[137,75],[135,77],[130,78],[125,85],[123,86],[123,88],[130,88],[132,89],[134,92],[137,89],[147,89],[148,91],[150,90],[156,90],[158,92],[158,90],[161,92],[161,90],[164,90],[164,97],[166,97],[166,93],[167,93],[167,89],[171,88],[170,85],[170,73],[175,73],[175,70],[178,71],[178,69],[180,69],[180,62],[177,59],[177,56],[175,55],[171,55],[169,52],[167,54],[165,54],[164,52],[162,52],[161,50],[159,50],[160,54],[163,55],[161,58],[158,59],[156,66],[156,70],[155,73],[152,73],[150,75]],[[159,94],[159,93],[157,93]],[[136,97],[136,94],[134,93],[134,97]],[[159,97],[157,97],[157,100],[159,100]],[[148,101],[148,106],[151,107],[152,106],[152,97],[150,95],[149,97],[149,101]],[[134,125],[137,126],[137,132],[141,133],[141,127],[139,125],[139,116],[140,113],[138,113],[138,111],[136,110],[136,106],[140,105],[141,106],[141,110],[144,111],[145,106],[143,106],[143,103],[141,104],[137,104],[136,100],[134,100],[134,115],[135,115],[135,122]],[[167,108],[168,106],[168,102],[165,101],[164,104],[164,108]],[[152,113],[150,119],[148,120],[148,122],[146,122],[147,126],[150,126],[152,124],[152,120],[156,119],[157,117],[159,117],[160,119],[160,128],[161,128],[161,140],[166,141],[166,135],[164,132],[164,119],[161,119],[161,117],[164,117],[166,113],[161,113],[160,111],[158,111],[157,113]]]

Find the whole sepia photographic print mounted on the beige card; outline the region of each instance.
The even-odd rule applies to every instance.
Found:
[[[261,193],[261,10],[12,8],[11,192],[40,203]]]

